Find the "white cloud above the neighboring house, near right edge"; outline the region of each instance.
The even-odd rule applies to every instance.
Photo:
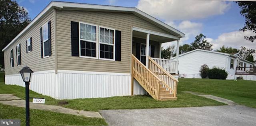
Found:
[[[252,36],[255,35],[252,31],[234,31],[223,33],[218,36],[217,39],[207,38],[209,42],[213,44],[213,49],[219,49],[221,46],[228,46],[232,48],[240,48],[240,46],[245,46],[246,48],[254,48],[256,49],[256,42],[249,42],[244,39],[244,36]]]

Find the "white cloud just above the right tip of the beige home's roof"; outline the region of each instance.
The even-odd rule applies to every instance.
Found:
[[[170,26],[173,26],[174,28],[177,28],[178,30],[186,34],[184,38],[180,39],[180,45],[183,45],[184,42],[189,38],[195,37],[196,35],[200,34],[203,27],[202,23],[190,22],[188,20],[182,21],[178,26],[176,26],[174,22],[168,22],[167,24]],[[162,46],[164,48],[167,48],[172,44],[176,44],[176,42],[166,42],[166,43],[163,43]]]

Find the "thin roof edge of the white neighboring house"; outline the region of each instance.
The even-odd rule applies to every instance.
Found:
[[[248,61],[248,60],[242,59],[242,58],[241,58],[241,55],[240,55],[239,53],[236,53],[236,54],[232,55],[232,54],[223,53],[223,52],[215,52],[215,51],[201,50],[201,49],[196,49],[196,50],[192,50],[192,51],[186,52],[186,53],[184,53],[184,54],[179,55],[179,57],[184,56],[184,55],[186,55],[186,54],[190,54],[190,53],[192,53],[192,52],[196,52],[196,51],[210,52],[210,53],[214,53],[214,54],[221,54],[221,55],[225,55],[225,56],[230,56],[230,57],[233,57],[233,58],[239,58],[240,60],[242,60],[242,61],[244,61],[244,62],[248,62],[248,63],[250,63],[250,64],[254,64],[253,62],[250,62],[250,61]],[[240,57],[239,57],[239,56],[240,56]],[[173,58],[176,58],[176,56],[173,57]]]

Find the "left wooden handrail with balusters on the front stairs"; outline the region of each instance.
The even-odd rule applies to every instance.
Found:
[[[162,80],[150,71],[140,60],[132,54],[132,78],[135,78],[140,85],[154,99],[159,100],[160,85]]]

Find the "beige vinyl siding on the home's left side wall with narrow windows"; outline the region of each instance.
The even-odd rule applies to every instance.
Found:
[[[51,20],[51,38],[52,38],[52,56],[48,58],[41,58],[41,45],[40,45],[40,27],[43,24]],[[32,51],[26,53],[26,40],[32,37]],[[10,45],[6,50],[4,50],[4,67],[5,74],[18,74],[18,72],[26,64],[34,72],[42,70],[54,70],[54,11],[52,10],[46,16],[44,16],[38,23],[32,26],[27,32],[25,32],[20,38],[18,38],[12,45]],[[16,46],[20,44],[21,46],[21,65],[17,66],[17,55]],[[10,66],[10,50],[14,51],[14,67]]]

